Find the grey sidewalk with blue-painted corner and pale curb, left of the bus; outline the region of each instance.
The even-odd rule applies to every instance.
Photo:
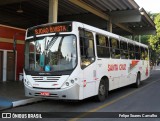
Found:
[[[22,81],[0,82],[0,110],[41,100],[40,98],[25,97]]]

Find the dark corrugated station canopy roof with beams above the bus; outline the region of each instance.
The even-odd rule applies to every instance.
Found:
[[[1,0],[0,24],[28,28],[48,23],[49,0]],[[134,0],[58,0],[58,22],[79,21],[119,35],[155,34],[147,12]]]

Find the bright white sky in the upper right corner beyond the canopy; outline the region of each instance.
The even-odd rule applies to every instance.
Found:
[[[134,0],[140,7],[147,12],[160,13],[160,0]]]

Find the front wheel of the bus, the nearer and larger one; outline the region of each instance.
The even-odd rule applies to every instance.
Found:
[[[98,95],[96,95],[96,101],[103,102],[108,95],[108,90],[106,89],[106,82],[105,80],[101,80],[98,88]]]

